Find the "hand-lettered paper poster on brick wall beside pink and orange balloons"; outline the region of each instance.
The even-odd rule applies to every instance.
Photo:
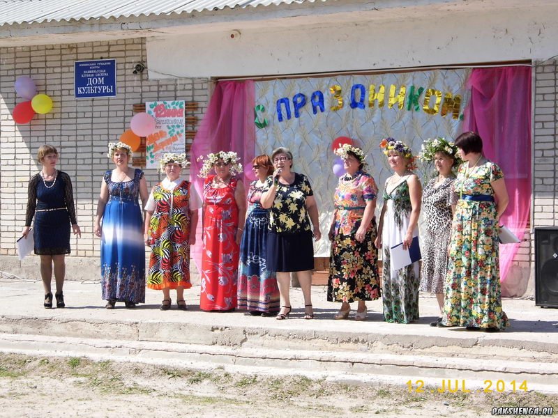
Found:
[[[184,100],[146,102],[145,111],[155,118],[155,132],[146,138],[146,168],[156,169],[165,153],[184,153],[186,123]]]

